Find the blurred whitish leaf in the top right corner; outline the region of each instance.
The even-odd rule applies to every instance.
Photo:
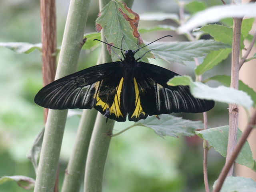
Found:
[[[203,26],[208,23],[215,23],[224,18],[243,18],[256,17],[256,4],[248,3],[242,5],[223,5],[207,8],[203,11],[197,12],[186,23],[178,28],[181,32],[191,31],[193,28]]]

